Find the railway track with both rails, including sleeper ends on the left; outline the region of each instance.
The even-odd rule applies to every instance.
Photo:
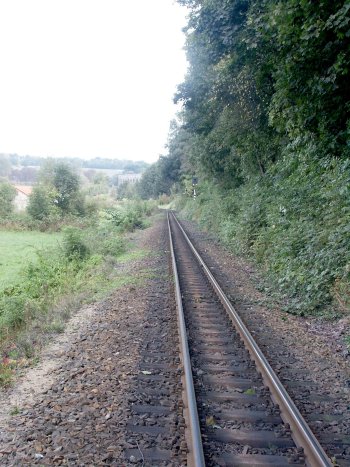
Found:
[[[168,228],[177,323],[169,306],[152,317],[129,462],[333,465],[173,214]]]

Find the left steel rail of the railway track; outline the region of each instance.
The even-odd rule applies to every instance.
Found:
[[[167,213],[168,220],[168,229],[169,229],[169,240],[170,240],[170,251],[172,258],[172,267],[175,281],[175,297],[177,304],[177,315],[178,315],[178,325],[179,325],[179,334],[180,334],[180,347],[182,354],[182,364],[184,367],[184,377],[185,377],[185,392],[187,399],[187,409],[188,409],[188,423],[190,428],[190,456],[192,456],[193,465],[195,467],[205,467],[203,446],[202,446],[202,435],[198,419],[198,410],[196,395],[193,385],[193,375],[191,367],[190,352],[188,348],[187,332],[185,317],[182,307],[182,297],[180,290],[179,276],[177,273],[173,238],[170,227],[169,212]]]

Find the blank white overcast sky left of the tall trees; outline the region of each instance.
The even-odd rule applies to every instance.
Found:
[[[0,0],[0,153],[156,161],[185,24],[173,0]]]

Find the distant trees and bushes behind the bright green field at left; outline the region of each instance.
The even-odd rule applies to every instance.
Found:
[[[134,174],[130,183],[119,183],[125,175],[110,178],[88,169],[83,179],[81,172],[68,161],[45,159],[25,199],[17,199],[21,187],[0,176],[0,229],[60,230],[67,223],[95,222],[100,211],[124,198],[139,201]]]

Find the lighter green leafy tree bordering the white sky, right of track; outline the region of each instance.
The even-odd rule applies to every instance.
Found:
[[[263,176],[280,152],[281,136],[269,126],[271,46],[251,25],[254,2],[180,3],[191,9],[190,68],[175,97],[183,103],[182,129],[190,146],[197,146],[191,151],[194,165],[233,188]],[[266,2],[257,3],[263,9]]]

